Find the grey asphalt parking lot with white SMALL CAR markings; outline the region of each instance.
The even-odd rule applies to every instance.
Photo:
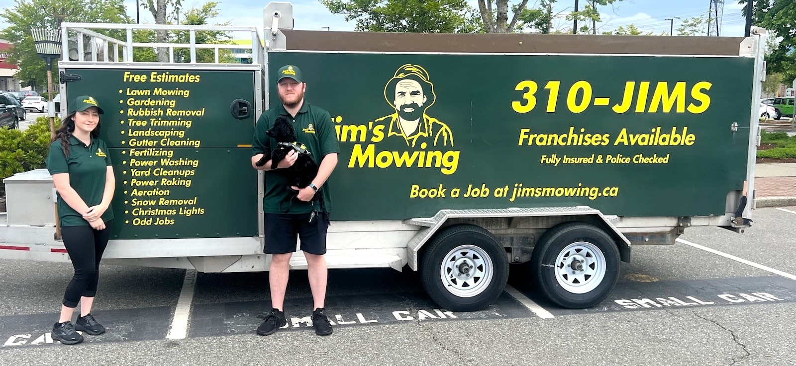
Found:
[[[48,332],[71,265],[0,260],[0,364],[796,364],[796,207],[754,218],[745,234],[692,228],[635,247],[611,295],[583,310],[544,302],[520,271],[486,310],[454,313],[415,273],[334,270],[330,337],[307,323],[304,271],[291,273],[287,328],[260,337],[267,273],[103,265],[94,314],[108,332],[60,345]]]

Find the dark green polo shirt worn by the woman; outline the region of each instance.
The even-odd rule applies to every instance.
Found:
[[[92,144],[86,145],[76,137],[69,137],[69,157],[64,154],[60,140],[50,144],[47,156],[47,170],[50,175],[69,174],[69,185],[83,198],[89,207],[102,203],[105,193],[107,167],[111,166],[105,141],[92,138]],[[58,218],[61,226],[89,226],[82,214],[72,209],[58,194]],[[104,222],[113,218],[111,206],[102,215]]]

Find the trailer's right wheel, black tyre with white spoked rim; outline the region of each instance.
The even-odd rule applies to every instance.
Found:
[[[597,305],[614,289],[620,271],[619,250],[603,229],[568,222],[547,233],[533,248],[534,280],[552,302],[583,309]]]

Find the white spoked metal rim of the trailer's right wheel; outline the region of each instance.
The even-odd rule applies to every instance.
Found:
[[[605,256],[596,245],[578,241],[558,253],[555,270],[556,281],[564,290],[585,294],[603,283]]]

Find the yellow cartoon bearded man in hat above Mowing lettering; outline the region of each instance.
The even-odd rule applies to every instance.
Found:
[[[451,129],[436,118],[426,114],[434,104],[434,84],[428,72],[419,65],[405,64],[398,67],[384,87],[384,99],[396,113],[377,119],[375,122],[388,125],[387,136],[404,137],[412,148],[418,142],[432,146],[453,146]]]

